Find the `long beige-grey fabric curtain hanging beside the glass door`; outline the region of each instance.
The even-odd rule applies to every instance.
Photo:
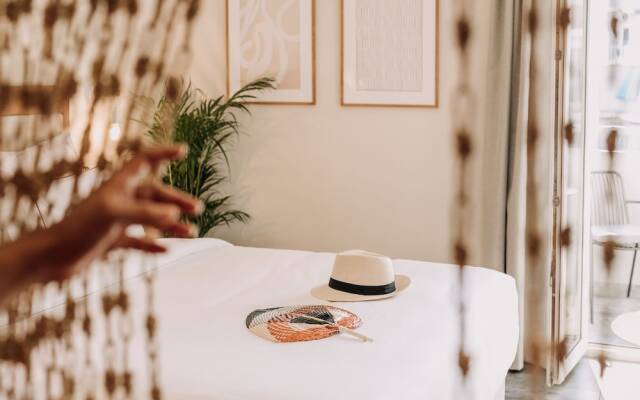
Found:
[[[536,101],[541,138],[538,142],[538,225],[543,252],[539,265],[526,259],[527,138],[530,46],[527,13],[532,0],[494,0],[483,145],[482,262],[516,280],[520,308],[520,344],[513,369],[530,359],[534,340],[548,341],[549,272],[553,221],[554,57],[553,2],[537,2],[540,13],[535,49]],[[535,0],[533,0],[535,1]],[[547,4],[548,3],[548,4]],[[538,307],[532,307],[532,304]],[[539,311],[536,313],[535,311]]]

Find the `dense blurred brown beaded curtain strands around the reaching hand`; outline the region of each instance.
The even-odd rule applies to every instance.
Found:
[[[74,154],[38,146],[14,165],[0,159],[0,192],[9,210],[0,222],[2,241],[36,229],[38,221],[55,222],[57,199],[46,200],[46,194],[61,177],[72,180],[73,207],[87,195],[81,190],[87,174],[89,185],[98,187],[140,150],[143,129],[131,122],[136,99],[177,96],[198,8],[198,0],[0,1],[0,115],[38,115],[3,124],[0,149],[47,143],[60,134],[55,113],[77,99],[84,106],[68,126]],[[115,137],[108,134],[114,121],[121,123]],[[133,331],[133,297],[123,283],[123,254],[10,299],[0,310],[0,398],[160,399],[154,275],[145,265],[139,332]],[[87,300],[92,277],[117,282],[100,294],[95,309]],[[47,310],[55,299],[62,307]],[[103,329],[100,335],[97,329]],[[132,345],[136,334],[144,337],[141,348]],[[146,359],[140,376],[130,362],[135,352]]]

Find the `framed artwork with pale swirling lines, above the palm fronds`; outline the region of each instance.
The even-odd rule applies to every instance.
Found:
[[[263,77],[256,103],[315,104],[315,0],[227,0],[227,94]]]

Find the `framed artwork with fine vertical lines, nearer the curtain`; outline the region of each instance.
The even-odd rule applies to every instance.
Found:
[[[342,105],[438,107],[439,0],[342,0]]]

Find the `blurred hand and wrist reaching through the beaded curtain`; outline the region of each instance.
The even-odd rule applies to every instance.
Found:
[[[128,236],[130,225],[192,236],[193,227],[181,222],[180,217],[183,213],[199,213],[201,203],[150,179],[165,162],[182,158],[184,153],[185,148],[178,146],[144,150],[75,206],[60,223],[14,243],[18,249],[35,245],[34,251],[25,253],[29,280],[62,280],[116,248],[165,251],[152,238]],[[37,251],[40,248],[43,250]]]

